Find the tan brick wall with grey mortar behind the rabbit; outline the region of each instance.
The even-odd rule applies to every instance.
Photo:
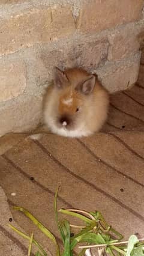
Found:
[[[109,91],[139,72],[144,0],[1,0],[0,135],[40,122],[52,67],[97,72]]]

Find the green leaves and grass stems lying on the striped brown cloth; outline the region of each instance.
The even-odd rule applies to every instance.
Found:
[[[34,225],[36,225],[44,235],[52,240],[56,248],[56,256],[83,256],[91,254],[91,248],[95,248],[98,251],[98,255],[125,255],[125,256],[144,256],[143,246],[144,239],[138,240],[136,236],[132,235],[128,241],[121,242],[124,238],[122,234],[116,231],[111,225],[107,224],[103,215],[100,212],[86,212],[79,209],[60,209],[57,210],[57,197],[58,189],[56,190],[54,209],[55,209],[55,219],[58,226],[59,233],[61,235],[61,240],[63,243],[63,251],[60,251],[59,244],[53,235],[53,233],[44,227],[40,221],[38,221],[28,210],[14,206],[14,210],[22,212],[26,217],[28,217]],[[69,215],[83,221],[83,225],[73,225],[70,224],[66,219],[59,221],[58,212],[64,215]],[[47,252],[43,249],[34,239],[34,233],[31,236],[17,230],[13,225],[8,224],[17,234],[23,238],[29,240],[28,256],[31,256],[32,244],[37,246],[37,253],[35,256],[47,256]],[[79,229],[79,232],[71,237],[71,228]],[[79,245],[80,243],[80,245]],[[85,243],[85,245],[82,245]],[[78,245],[80,252],[76,254],[74,249]]]

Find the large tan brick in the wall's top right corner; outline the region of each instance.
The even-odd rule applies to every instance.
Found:
[[[84,1],[78,27],[82,32],[101,31],[142,17],[143,0]]]

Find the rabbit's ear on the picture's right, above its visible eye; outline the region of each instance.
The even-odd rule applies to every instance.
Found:
[[[88,76],[84,81],[80,82],[77,87],[76,90],[80,91],[83,94],[91,94],[92,91],[94,90],[95,87],[95,76],[91,75]]]

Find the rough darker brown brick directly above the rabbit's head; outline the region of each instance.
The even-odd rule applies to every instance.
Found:
[[[107,59],[109,47],[108,40],[94,40],[79,43],[62,44],[59,49],[49,50],[47,47],[41,49],[34,61],[32,72],[37,76],[37,84],[44,84],[44,81],[50,82],[52,79],[52,68],[83,67],[86,70],[92,70],[100,65],[104,65]],[[34,54],[34,53],[33,53]]]

